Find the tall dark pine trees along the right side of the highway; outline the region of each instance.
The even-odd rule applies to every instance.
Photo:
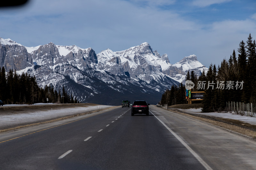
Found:
[[[202,112],[223,111],[228,101],[256,103],[256,43],[252,40],[251,34],[246,43],[240,42],[237,51],[238,57],[233,50],[228,61],[223,59],[218,68],[215,64],[211,64],[208,72],[205,74],[203,71],[199,78],[196,78],[194,72],[187,73],[186,80],[195,83],[193,90],[205,92]],[[197,82],[205,82],[205,89],[198,90]],[[233,87],[220,88],[221,84],[226,82],[233,83]],[[243,88],[241,86],[238,89],[235,88],[236,82],[244,82]],[[168,105],[172,105],[173,103],[169,101],[175,100],[176,96],[172,94],[166,98],[167,93],[170,94],[168,91],[164,92],[165,95],[163,94],[161,102],[168,102]],[[185,98],[185,92],[182,97]]]

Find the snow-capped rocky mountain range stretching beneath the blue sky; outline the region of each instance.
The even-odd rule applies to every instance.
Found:
[[[82,102],[118,105],[121,100],[157,103],[166,88],[184,81],[187,71],[205,69],[195,55],[171,64],[145,42],[124,51],[95,54],[92,48],[59,46],[50,42],[25,47],[0,38],[0,66],[35,75],[39,86],[62,86]]]

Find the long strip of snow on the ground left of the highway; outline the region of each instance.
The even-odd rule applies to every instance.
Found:
[[[17,106],[17,105],[12,105],[12,106]],[[113,107],[113,106],[97,105],[97,106],[87,106],[87,107],[51,109],[51,110],[43,110],[43,111],[35,110],[35,111],[20,113],[20,114],[8,114],[8,115],[0,114],[0,128],[17,125],[17,124],[44,121],[44,120],[49,120],[57,117],[65,117],[68,115],[75,115],[75,114],[90,112],[94,110],[104,109],[108,107]]]

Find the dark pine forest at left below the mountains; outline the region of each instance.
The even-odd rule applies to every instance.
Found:
[[[67,94],[65,88],[62,92],[45,85],[40,88],[36,77],[28,73],[18,75],[16,70],[9,70],[6,74],[4,67],[0,67],[0,100],[4,104],[34,104],[34,103],[79,103],[76,98]]]

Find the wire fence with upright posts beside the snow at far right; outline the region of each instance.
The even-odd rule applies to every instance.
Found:
[[[242,103],[242,102],[235,102],[235,101],[228,101],[226,102],[226,111],[229,113],[235,113],[237,115],[242,116],[251,116],[256,117],[255,114],[255,104],[254,103]]]

